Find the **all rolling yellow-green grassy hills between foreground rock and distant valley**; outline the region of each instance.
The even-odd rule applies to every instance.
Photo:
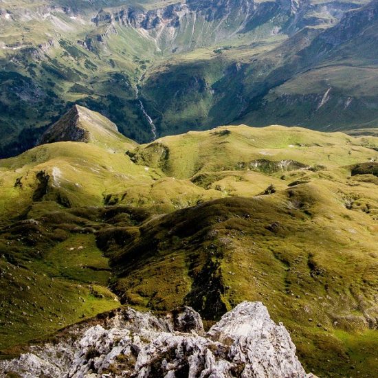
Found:
[[[377,137],[222,126],[137,145],[79,110],[86,143],[0,162],[1,349],[120,303],[211,324],[261,300],[307,370],[374,376]]]

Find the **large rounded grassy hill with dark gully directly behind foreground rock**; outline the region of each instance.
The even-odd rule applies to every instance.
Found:
[[[357,365],[373,377],[377,227],[366,229],[368,215],[348,214],[330,195],[302,184],[271,197],[219,199],[150,221],[140,234],[125,230],[121,250],[106,230],[99,241],[120,277],[115,292],[123,303],[162,311],[187,303],[208,320],[242,299],[262,300],[317,374],[343,376]]]

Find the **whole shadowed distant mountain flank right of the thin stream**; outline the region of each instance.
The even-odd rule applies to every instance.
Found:
[[[151,69],[144,95],[159,133],[235,120],[321,130],[374,127],[376,8],[373,2],[346,12],[334,27],[308,22],[286,39],[285,33],[255,34],[254,43],[229,41],[206,58],[197,53],[195,64],[179,56]]]

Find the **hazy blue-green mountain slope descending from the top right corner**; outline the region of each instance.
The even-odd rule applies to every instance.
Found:
[[[376,127],[377,27],[377,1],[346,12],[340,23],[269,74],[274,87],[263,93],[258,107],[245,111],[242,122],[279,120],[324,130]]]

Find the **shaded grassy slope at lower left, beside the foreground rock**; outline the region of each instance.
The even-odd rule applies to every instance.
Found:
[[[107,289],[111,272],[93,235],[69,237],[60,227],[42,239],[41,230],[38,223],[24,222],[1,231],[2,349],[120,305]],[[27,256],[33,249],[34,256]],[[17,353],[17,348],[10,353]]]

